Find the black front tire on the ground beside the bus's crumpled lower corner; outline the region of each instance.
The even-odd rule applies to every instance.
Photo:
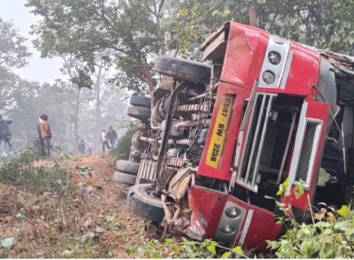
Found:
[[[162,201],[152,195],[151,184],[137,184],[130,187],[127,197],[128,208],[135,214],[159,223],[165,216]]]

